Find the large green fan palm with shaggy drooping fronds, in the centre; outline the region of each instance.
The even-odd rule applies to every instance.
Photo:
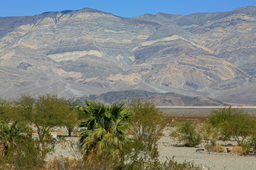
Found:
[[[126,106],[123,103],[108,105],[85,100],[83,112],[88,118],[79,124],[84,128],[80,133],[82,154],[120,159],[122,145],[128,140],[126,120],[130,112]]]

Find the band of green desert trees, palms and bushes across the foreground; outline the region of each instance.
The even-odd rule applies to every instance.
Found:
[[[66,127],[71,136],[79,122],[78,150],[83,154],[75,157],[79,151],[71,140],[75,154],[65,158],[67,169],[202,169],[190,162],[158,160],[158,140],[167,121],[168,130],[176,129],[169,132],[184,146],[196,146],[203,138],[206,150],[222,153],[223,146],[216,143],[221,137],[237,141],[239,146],[231,153],[247,154],[256,147],[254,118],[231,107],[213,111],[208,120],[167,118],[155,103],[146,100],[133,99],[126,105],[85,100],[82,106],[74,98],[46,94],[0,100],[0,118],[0,169],[62,169],[61,158],[45,162],[56,144],[51,134],[65,134],[61,127]]]

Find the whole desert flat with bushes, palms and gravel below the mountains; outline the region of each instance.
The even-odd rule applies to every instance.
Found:
[[[253,169],[256,161],[255,107],[103,104],[46,94],[1,100],[0,109],[4,169],[61,169],[62,158],[67,169]]]

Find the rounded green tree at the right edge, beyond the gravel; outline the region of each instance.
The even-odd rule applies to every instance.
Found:
[[[255,134],[255,120],[243,109],[222,108],[215,110],[209,117],[210,124],[220,129],[223,140],[234,138],[241,146],[245,139]]]

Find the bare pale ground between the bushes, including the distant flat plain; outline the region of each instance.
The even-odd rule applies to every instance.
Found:
[[[187,117],[187,116],[195,116],[195,117],[206,117],[210,115],[210,112],[213,107],[176,107],[176,108],[162,108],[162,111],[169,116],[178,116],[178,117]],[[245,108],[244,108],[245,109]],[[256,109],[253,108],[246,108],[245,109],[248,114],[256,116]],[[168,129],[170,130],[170,129]],[[62,129],[61,134],[67,134],[67,132]],[[168,131],[164,131],[165,137],[162,137],[161,140],[158,142],[159,148],[159,159],[161,161],[165,161],[166,158],[171,159],[174,156],[174,160],[178,162],[194,162],[196,165],[204,165],[206,168],[212,170],[256,170],[256,156],[233,156],[227,153],[197,153],[197,148],[189,148],[189,147],[177,147],[174,146],[177,142],[168,137]],[[53,133],[53,136],[56,133]],[[67,139],[72,141],[77,141],[78,138]],[[75,147],[70,147],[69,144],[66,143],[58,143],[56,144],[56,152],[53,155],[47,157],[46,160],[53,159],[55,156],[57,157],[68,157],[68,156],[75,156],[80,157],[78,150],[75,150]],[[226,142],[223,143],[219,141],[220,144],[228,144],[235,142]]]

